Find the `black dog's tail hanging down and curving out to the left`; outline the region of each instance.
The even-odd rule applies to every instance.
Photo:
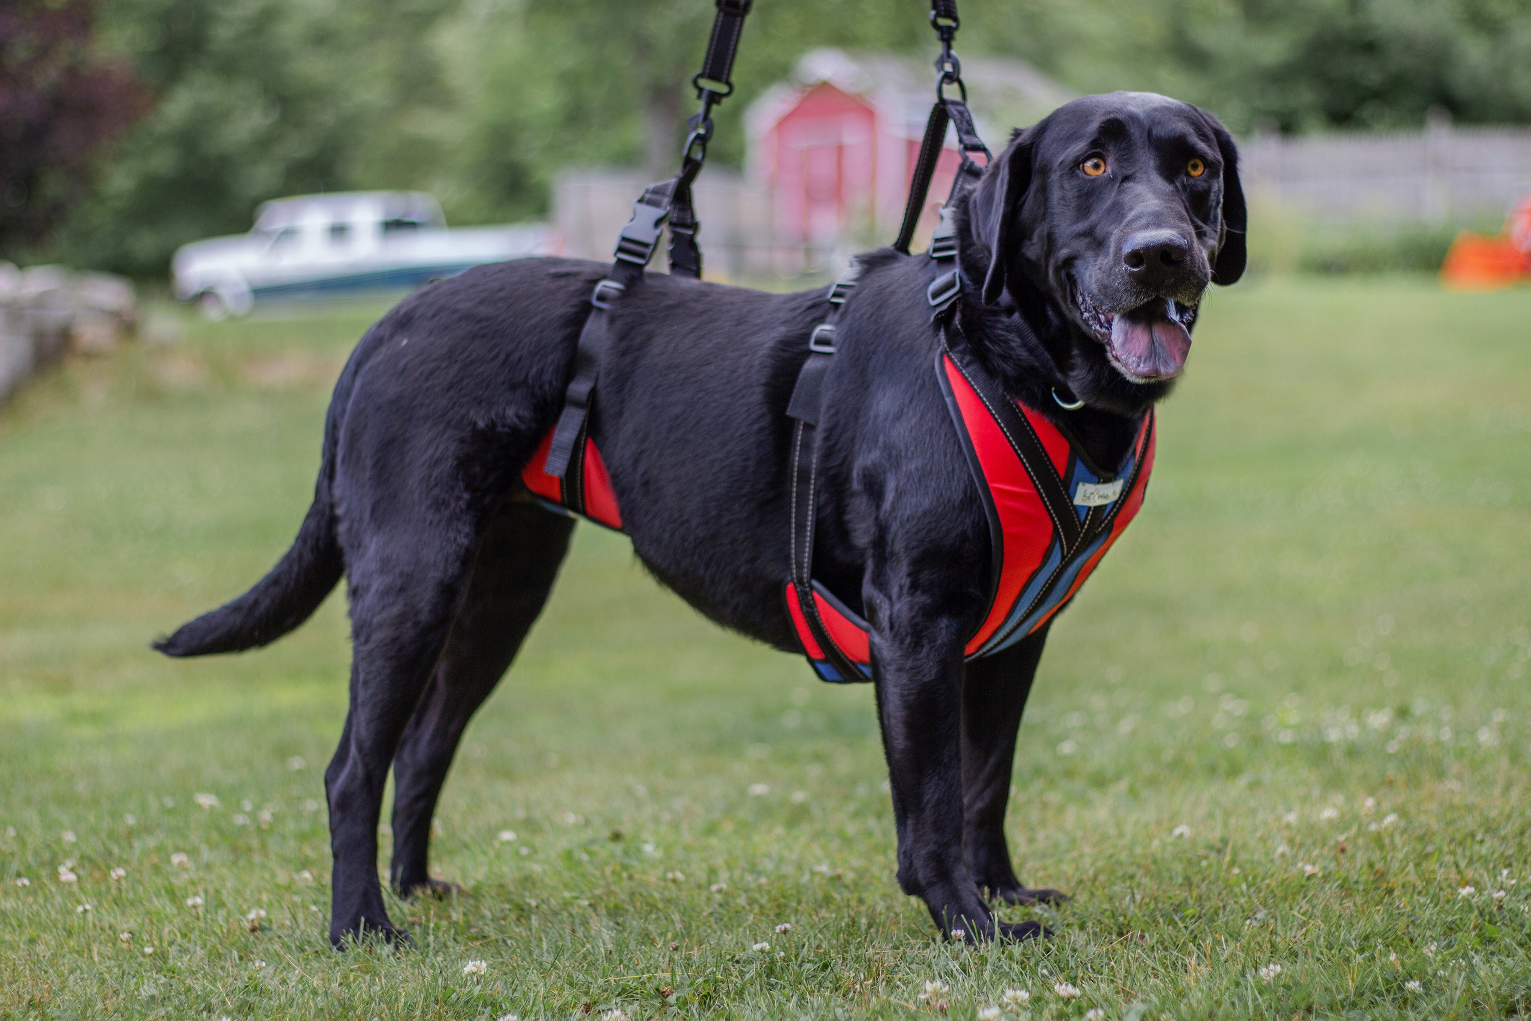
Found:
[[[364,344],[358,344],[358,354]],[[191,657],[243,652],[269,644],[308,620],[344,572],[335,534],[332,481],[335,449],[344,407],[351,403],[358,358],[352,358],[325,416],[325,449],[314,485],[314,504],[292,546],[253,589],[217,609],[182,625],[168,638],[155,641],[165,655]]]

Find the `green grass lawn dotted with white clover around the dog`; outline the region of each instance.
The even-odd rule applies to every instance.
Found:
[[[188,321],[0,410],[0,1016],[1531,1012],[1531,289],[1211,297],[1021,732],[1012,848],[1076,900],[980,949],[897,889],[868,686],[591,527],[447,784],[464,892],[390,900],[415,951],[329,949],[343,600],[246,655],[149,640],[286,548],[366,323]]]

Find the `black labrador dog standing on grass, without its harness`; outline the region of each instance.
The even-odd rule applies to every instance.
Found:
[[[1134,419],[1170,392],[1206,285],[1245,265],[1232,141],[1202,110],[1148,93],[1082,98],[1017,132],[957,227],[955,314],[974,355],[1012,396],[1067,418],[1098,464],[1118,464]],[[337,946],[404,937],[377,873],[389,765],[390,880],[403,894],[442,886],[426,851],[447,767],[574,527],[519,475],[559,415],[603,274],[530,259],[393,308],[335,386],[292,548],[250,592],[158,643],[175,657],[266,644],[346,576],[351,710],[325,773]],[[934,276],[923,256],[862,257],[819,422],[816,574],[871,625],[900,886],[957,938],[1024,938],[1040,928],[998,922],[986,894],[1059,897],[1017,879],[1004,839],[1046,631],[963,663],[989,592],[989,531],[931,372]],[[594,422],[643,563],[707,617],[788,651],[784,410],[827,311],[822,291],[649,276],[615,306]],[[1084,407],[1063,410],[1055,389]]]

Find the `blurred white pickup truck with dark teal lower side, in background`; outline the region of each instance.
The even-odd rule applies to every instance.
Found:
[[[248,234],[182,245],[170,272],[178,298],[222,318],[257,302],[406,291],[559,250],[557,231],[542,223],[447,230],[441,205],[423,191],[337,191],[266,202]]]

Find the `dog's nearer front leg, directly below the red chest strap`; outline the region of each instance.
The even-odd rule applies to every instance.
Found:
[[[1027,938],[1035,923],[997,922],[963,856],[961,680],[965,625],[877,614],[877,715],[899,834],[899,885],[952,938]]]

